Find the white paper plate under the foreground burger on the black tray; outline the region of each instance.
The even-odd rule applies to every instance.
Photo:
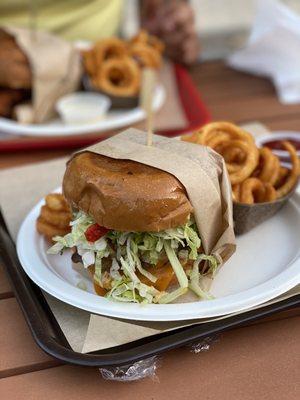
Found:
[[[43,201],[27,215],[17,252],[28,276],[52,296],[96,314],[133,320],[177,321],[216,317],[268,301],[300,283],[300,195],[273,218],[237,238],[237,251],[214,279],[214,300],[182,304],[124,304],[94,294],[92,282],[71,266],[70,252],[46,254],[48,244],[36,232]],[[84,280],[87,291],[76,285]]]

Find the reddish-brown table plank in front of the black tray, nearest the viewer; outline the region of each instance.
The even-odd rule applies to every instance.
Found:
[[[9,400],[296,400],[299,334],[300,318],[228,332],[208,352],[169,352],[154,381],[112,383],[97,369],[62,366],[2,379],[0,391]]]

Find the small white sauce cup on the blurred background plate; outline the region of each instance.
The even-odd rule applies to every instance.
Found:
[[[75,92],[61,97],[56,103],[56,111],[65,124],[89,124],[103,119],[110,106],[111,101],[105,95]]]

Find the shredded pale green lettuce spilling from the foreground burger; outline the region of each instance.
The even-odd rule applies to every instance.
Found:
[[[94,220],[82,211],[74,215],[71,233],[53,238],[56,242],[49,254],[59,254],[66,248],[76,247],[85,268],[94,265],[94,280],[103,287],[105,276],[109,277],[110,290],[107,298],[115,301],[133,303],[170,303],[182,296],[188,289],[200,298],[211,298],[200,287],[199,265],[206,261],[209,268],[206,274],[214,274],[218,262],[214,256],[199,254],[201,240],[192,219],[183,226],[162,232],[119,232],[108,233],[95,242],[89,242],[85,232]],[[143,267],[144,263],[156,265],[159,260],[168,258],[178,279],[179,288],[168,293],[160,292],[151,285],[157,277]],[[110,269],[103,275],[103,260],[110,260]],[[193,268],[186,272],[183,265],[194,260]],[[106,269],[107,270],[107,269]],[[109,275],[107,275],[109,274]],[[142,276],[146,278],[141,282]],[[106,286],[105,286],[106,287]]]

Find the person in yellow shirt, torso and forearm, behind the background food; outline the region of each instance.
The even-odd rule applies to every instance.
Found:
[[[131,0],[133,1],[133,0]],[[0,0],[0,26],[30,26],[69,40],[95,41],[118,34],[122,0]],[[141,25],[166,44],[167,55],[183,63],[198,56],[193,10],[184,0],[140,0]]]

